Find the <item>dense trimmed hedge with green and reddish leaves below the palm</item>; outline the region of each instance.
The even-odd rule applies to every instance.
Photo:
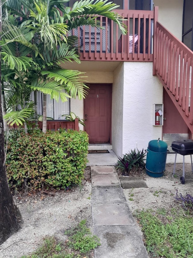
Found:
[[[11,188],[67,188],[80,184],[87,163],[88,135],[65,130],[8,137],[6,167]]]

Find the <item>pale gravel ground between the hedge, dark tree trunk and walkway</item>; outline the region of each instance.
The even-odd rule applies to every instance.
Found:
[[[46,236],[55,236],[64,241],[64,232],[76,226],[82,219],[93,227],[91,211],[91,183],[86,181],[81,188],[59,191],[47,196],[27,196],[16,199],[24,223],[21,230],[13,234],[0,246],[1,258],[19,258],[28,255]]]

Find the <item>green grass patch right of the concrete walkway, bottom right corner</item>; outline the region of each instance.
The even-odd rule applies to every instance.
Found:
[[[182,210],[159,209],[134,214],[150,257],[193,258],[193,217]]]

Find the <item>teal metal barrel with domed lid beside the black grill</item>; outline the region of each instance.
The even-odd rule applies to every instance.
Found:
[[[148,144],[146,158],[146,174],[152,177],[162,177],[166,169],[168,145],[161,140],[152,140]]]

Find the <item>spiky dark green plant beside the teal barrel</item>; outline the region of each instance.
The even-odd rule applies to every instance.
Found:
[[[136,152],[135,149],[134,151],[131,150],[131,152],[126,153],[123,155],[123,158],[119,157],[119,160],[117,161],[117,168],[121,168],[123,171],[128,172],[132,168],[135,168],[138,170],[138,168],[144,168],[145,163],[144,163],[144,149],[142,151]]]

